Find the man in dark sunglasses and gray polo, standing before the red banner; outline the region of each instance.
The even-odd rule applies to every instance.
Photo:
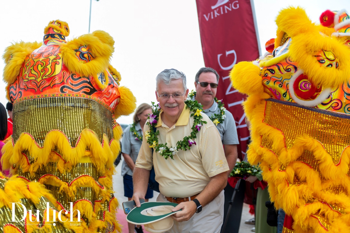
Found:
[[[224,145],[225,157],[230,167],[229,176],[237,161],[237,144],[239,144],[239,141],[235,119],[233,119],[231,112],[223,106],[220,107],[222,105],[221,101],[214,101],[218,82],[219,75],[216,70],[209,67],[201,68],[196,74],[196,95],[192,97],[192,100],[196,100],[203,105],[203,112],[210,117],[219,131]]]

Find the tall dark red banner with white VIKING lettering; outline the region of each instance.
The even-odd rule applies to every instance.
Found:
[[[242,159],[247,148],[249,131],[241,103],[245,96],[232,88],[229,73],[239,61],[259,57],[250,0],[196,0],[204,63],[215,69],[220,78],[216,97],[223,99],[236,121]]]

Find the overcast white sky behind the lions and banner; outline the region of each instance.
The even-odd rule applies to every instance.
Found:
[[[326,9],[350,11],[350,0],[255,0],[254,5],[264,52],[265,42],[275,37],[274,19],[283,7],[302,6],[314,22]],[[42,41],[44,27],[55,19],[68,22],[67,40],[85,34],[89,9],[90,0],[1,0],[0,52],[13,41]],[[194,89],[194,76],[204,66],[195,0],[92,0],[90,32],[94,30],[113,36],[111,64],[121,74],[121,85],[137,97],[137,105],[156,101],[155,76],[163,69],[183,71],[188,88]],[[3,67],[0,62],[1,73]],[[0,102],[7,103],[2,80]],[[117,121],[131,123],[132,116]]]

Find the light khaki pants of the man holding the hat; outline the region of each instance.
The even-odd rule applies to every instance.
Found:
[[[188,221],[177,222],[166,233],[219,233],[224,220],[224,191],[202,208],[200,213],[195,213]],[[159,194],[157,201],[168,202]]]

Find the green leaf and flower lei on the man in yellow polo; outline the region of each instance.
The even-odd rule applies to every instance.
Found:
[[[197,101],[187,100],[185,101],[186,109],[190,108],[190,111],[193,112],[191,116],[194,118],[193,126],[192,126],[192,132],[189,136],[186,136],[183,138],[182,141],[178,141],[176,143],[176,146],[174,147],[168,147],[167,143],[165,144],[159,144],[158,143],[158,135],[159,130],[154,130],[155,125],[159,121],[159,113],[160,113],[160,106],[159,104],[155,105],[154,102],[152,102],[153,111],[152,114],[149,115],[147,121],[147,125],[149,126],[149,130],[145,132],[145,137],[147,139],[147,143],[149,144],[150,148],[153,148],[155,152],[160,153],[161,156],[163,156],[165,159],[168,159],[169,157],[171,159],[174,159],[173,156],[176,155],[179,150],[190,150],[192,144],[196,144],[194,141],[195,138],[197,138],[196,134],[201,130],[201,126],[203,124],[206,124],[206,121],[202,121],[203,116],[201,115],[202,106]]]

